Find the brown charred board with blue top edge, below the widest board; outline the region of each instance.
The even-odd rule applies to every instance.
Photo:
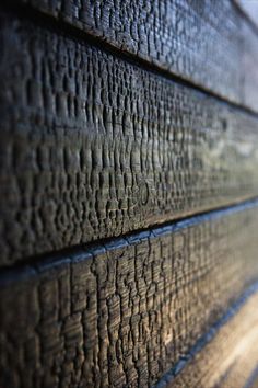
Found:
[[[0,386],[149,387],[258,276],[258,202],[1,272]]]

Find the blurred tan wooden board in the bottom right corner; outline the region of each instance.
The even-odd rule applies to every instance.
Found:
[[[257,292],[227,322],[219,329],[214,326],[206,336],[207,345],[190,356],[180,373],[155,388],[257,387],[254,385],[258,373]]]

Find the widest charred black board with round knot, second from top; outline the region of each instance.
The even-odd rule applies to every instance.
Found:
[[[1,265],[255,196],[258,119],[1,14]]]

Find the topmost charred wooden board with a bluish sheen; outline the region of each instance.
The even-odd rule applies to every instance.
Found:
[[[258,34],[246,34],[248,23],[231,0],[13,2],[30,4],[122,52],[258,110],[253,73],[248,73],[243,60],[246,55],[255,55],[257,62]],[[253,36],[256,45],[246,53]],[[255,101],[248,94],[255,94]]]

